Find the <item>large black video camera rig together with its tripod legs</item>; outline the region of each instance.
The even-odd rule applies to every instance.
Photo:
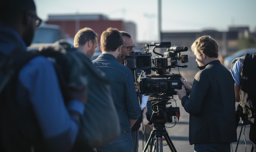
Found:
[[[146,112],[146,117],[150,123],[154,124],[153,130],[150,133],[150,137],[146,142],[144,152],[146,152],[148,145],[153,146],[154,139],[156,142],[156,148],[162,149],[162,136],[166,139],[169,147],[173,152],[176,152],[175,148],[172,146],[171,139],[165,129],[165,123],[173,122],[172,117],[179,121],[180,118],[180,108],[169,106],[171,100],[174,99],[173,95],[177,93],[174,91],[175,88],[181,89],[182,76],[178,74],[170,74],[171,68],[175,67],[187,67],[177,64],[177,60],[181,60],[182,63],[188,62],[188,55],[181,55],[180,52],[187,51],[187,47],[171,46],[171,42],[161,42],[155,44],[145,44],[145,52],[135,52],[132,55],[126,55],[124,57],[124,65],[133,70],[142,70],[140,76],[137,79],[139,82],[139,92],[144,95],[149,95],[148,103],[151,101],[151,110],[148,108]],[[164,55],[155,52],[155,48],[167,48]],[[156,55],[151,54],[153,51]],[[155,66],[152,67],[153,63]],[[155,71],[155,75],[150,75],[151,70]],[[146,73],[145,77],[142,77],[143,73]],[[135,75],[136,76],[136,75]],[[174,99],[174,101],[176,101]],[[147,105],[148,105],[147,103]],[[160,146],[158,145],[158,139],[160,137]],[[152,147],[151,147],[152,148]],[[155,148],[153,148],[155,150]],[[156,149],[158,151],[158,149]],[[150,149],[152,151],[152,149]]]

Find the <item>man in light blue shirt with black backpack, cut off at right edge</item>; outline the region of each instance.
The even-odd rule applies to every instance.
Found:
[[[249,139],[252,141],[252,152],[256,152],[256,53],[245,53],[234,59],[231,74],[235,80],[236,102],[243,108],[243,124],[250,125]]]

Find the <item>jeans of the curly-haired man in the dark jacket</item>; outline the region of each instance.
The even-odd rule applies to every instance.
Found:
[[[194,152],[230,152],[230,143],[195,143]]]

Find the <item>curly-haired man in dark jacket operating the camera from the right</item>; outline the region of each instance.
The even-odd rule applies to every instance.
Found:
[[[237,141],[234,79],[220,64],[218,44],[212,37],[199,37],[191,50],[200,71],[193,86],[181,79],[182,89],[175,89],[190,114],[189,142],[195,152],[230,152],[230,143]]]

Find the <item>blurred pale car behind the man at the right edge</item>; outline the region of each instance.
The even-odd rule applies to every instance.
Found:
[[[237,57],[243,56],[245,53],[254,53],[256,52],[256,48],[246,48],[240,51],[237,51],[233,55],[227,56],[224,58],[224,66],[226,66],[228,69],[231,68],[231,62],[236,59]]]

